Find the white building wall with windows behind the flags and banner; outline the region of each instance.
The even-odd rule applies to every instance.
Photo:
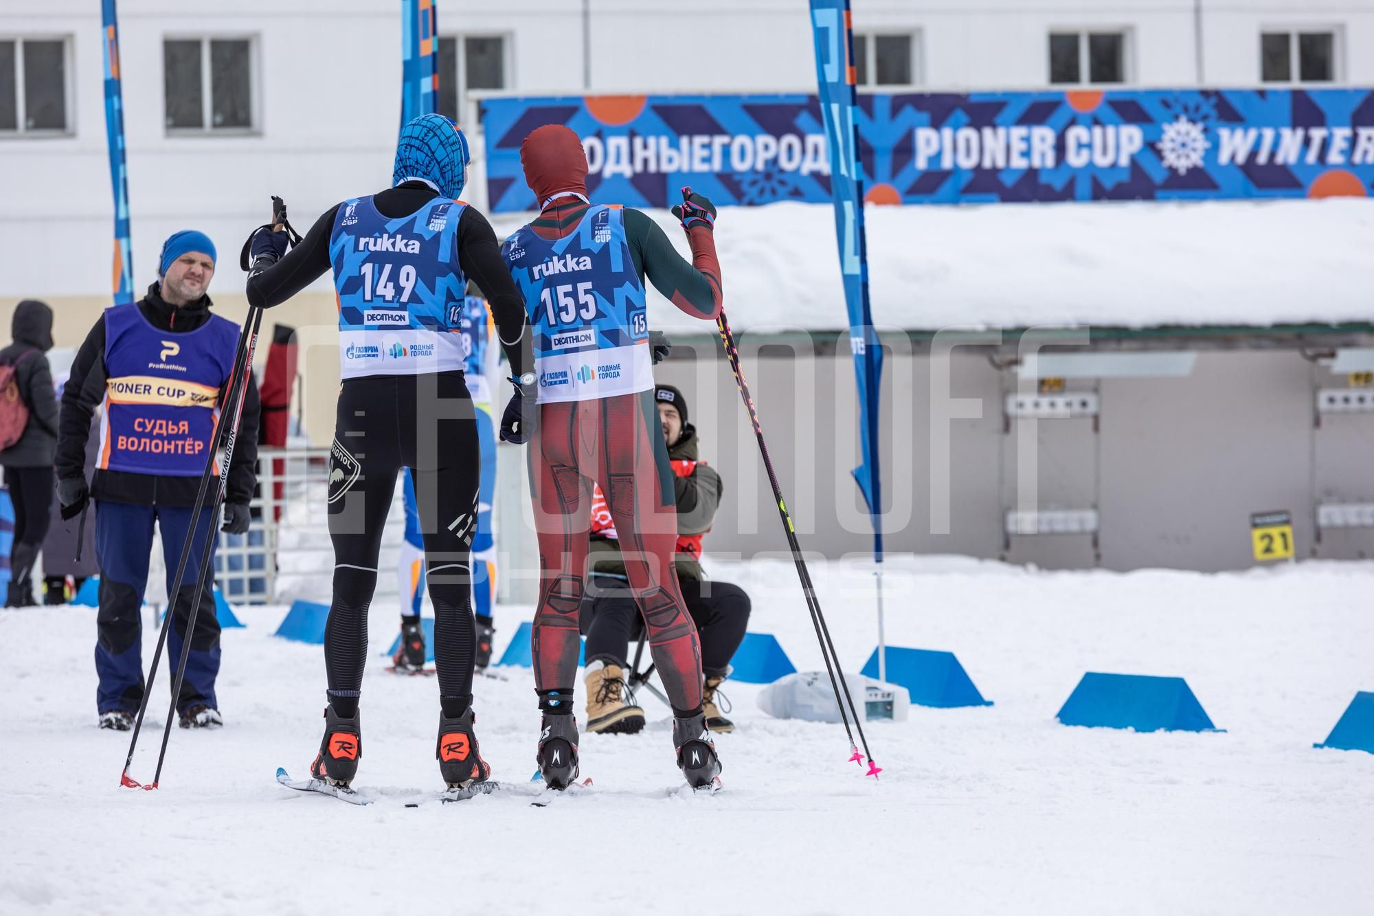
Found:
[[[929,88],[1036,88],[1055,28],[1131,29],[1135,85],[1190,85],[1189,0],[855,0],[860,30],[922,34]],[[305,228],[331,204],[386,183],[400,117],[400,15],[390,0],[121,0],[136,287],[162,239],[195,226],[221,252],[212,293],[238,286],[234,256],[287,197]],[[793,89],[815,85],[801,0],[591,0],[599,92]],[[1344,76],[1374,84],[1374,0],[1204,0],[1209,84],[1259,76],[1259,33],[1338,25]],[[583,92],[581,0],[441,0],[440,32],[511,36],[513,91]],[[258,36],[260,133],[166,136],[162,39]],[[0,34],[70,34],[74,135],[0,139],[0,304],[21,296],[107,296],[111,197],[99,4],[4,0]],[[480,169],[478,169],[480,176]],[[477,176],[474,176],[477,177]],[[470,198],[484,202],[474,182]],[[62,331],[63,329],[59,329]]]

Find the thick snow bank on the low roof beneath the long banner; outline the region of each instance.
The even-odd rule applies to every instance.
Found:
[[[654,216],[686,253],[676,220]],[[1374,319],[1366,199],[870,206],[867,226],[879,326]],[[829,205],[728,208],[716,238],[735,329],[848,325]],[[703,330],[657,293],[650,309],[654,327]]]

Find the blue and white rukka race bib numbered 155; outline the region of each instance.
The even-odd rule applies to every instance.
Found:
[[[621,208],[592,206],[561,239],[521,227],[502,254],[534,331],[540,403],[654,386],[644,285],[629,254]]]

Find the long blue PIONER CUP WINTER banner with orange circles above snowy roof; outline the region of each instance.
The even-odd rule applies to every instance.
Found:
[[[812,10],[844,22],[838,4]],[[818,40],[826,28],[815,26]],[[1369,87],[866,92],[849,111],[870,204],[1367,197],[1374,188]],[[717,205],[829,202],[823,120],[822,99],[805,94],[485,99],[491,210],[529,209],[519,144],[541,124],[583,139],[594,204],[668,208],[683,184]]]

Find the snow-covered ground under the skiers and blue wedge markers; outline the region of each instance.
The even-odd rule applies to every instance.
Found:
[[[752,629],[819,667],[787,563],[716,563]],[[875,642],[863,564],[813,569],[846,668]],[[1312,913],[1374,898],[1374,755],[1319,751],[1374,689],[1374,564],[1234,575],[1046,574],[889,564],[888,634],[955,651],[992,707],[872,723],[882,780],[838,725],[769,719],[728,685],[727,791],[669,796],[668,710],[584,736],[596,792],[407,809],[438,781],[437,684],[370,662],[359,785],[370,807],[290,792],[320,732],[319,646],[240,608],[217,733],[173,729],[162,788],[118,787],[126,734],[95,728],[95,611],[0,612],[0,913]],[[151,616],[151,615],[148,615]],[[497,651],[529,608],[500,608]],[[389,645],[390,607],[372,615]],[[146,657],[155,634],[146,618]],[[1226,733],[1065,728],[1087,670],[1184,675]],[[528,670],[477,684],[496,777],[533,772]],[[578,685],[580,686],[580,685]],[[155,686],[161,719],[166,681]],[[578,697],[581,703],[581,697]],[[154,723],[155,725],[155,723]],[[148,778],[159,730],[135,763]]]

